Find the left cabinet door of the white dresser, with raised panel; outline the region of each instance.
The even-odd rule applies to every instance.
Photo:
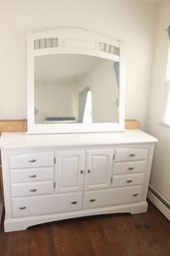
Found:
[[[84,188],[85,150],[57,152],[57,192],[80,191]]]

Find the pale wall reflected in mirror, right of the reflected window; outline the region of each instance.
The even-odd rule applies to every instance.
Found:
[[[85,74],[82,83],[78,87],[77,95],[86,87],[89,87],[91,91],[92,122],[118,122],[116,105],[118,89],[113,62],[108,60],[98,62],[91,71]]]

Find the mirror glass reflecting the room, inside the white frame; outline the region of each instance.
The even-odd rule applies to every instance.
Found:
[[[118,123],[118,68],[81,54],[35,57],[35,123]]]

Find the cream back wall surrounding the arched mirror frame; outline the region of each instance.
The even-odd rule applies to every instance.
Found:
[[[0,1],[0,119],[26,118],[27,33],[70,26],[125,42],[126,118],[145,128],[156,13],[142,0]]]

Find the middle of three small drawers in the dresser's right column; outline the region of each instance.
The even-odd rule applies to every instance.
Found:
[[[113,174],[145,172],[147,161],[114,162]]]

